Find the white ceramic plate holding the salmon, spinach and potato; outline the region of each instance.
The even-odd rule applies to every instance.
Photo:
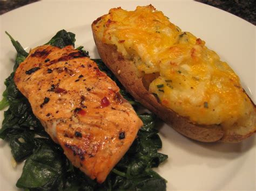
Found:
[[[9,76],[16,51],[8,31],[27,50],[48,41],[65,29],[76,34],[76,45],[83,45],[98,57],[91,23],[110,8],[153,4],[171,22],[206,41],[221,60],[237,72],[248,95],[255,103],[255,26],[230,13],[197,2],[170,1],[43,1],[24,6],[1,16],[0,92]],[[1,112],[1,121],[3,112]],[[160,129],[161,152],[169,159],[156,170],[167,183],[167,190],[255,190],[255,137],[238,144],[198,143],[169,126]],[[9,146],[0,142],[0,190],[16,190],[22,165],[13,168]]]

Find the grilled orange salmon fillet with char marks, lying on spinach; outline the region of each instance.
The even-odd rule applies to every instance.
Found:
[[[99,183],[143,125],[116,83],[72,46],[32,49],[14,80],[72,164]]]

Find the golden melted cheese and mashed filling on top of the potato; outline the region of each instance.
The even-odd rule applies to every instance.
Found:
[[[197,124],[239,124],[253,112],[239,77],[205,42],[183,32],[152,5],[111,9],[97,23],[103,43],[116,45],[161,104]]]

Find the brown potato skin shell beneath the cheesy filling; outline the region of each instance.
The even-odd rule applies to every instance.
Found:
[[[188,118],[179,116],[173,110],[161,105],[157,98],[144,87],[143,78],[138,77],[136,66],[130,60],[126,60],[121,53],[117,52],[115,45],[105,44],[97,38],[94,26],[98,20],[100,18],[92,23],[92,33],[100,58],[137,101],[172,126],[174,130],[200,142],[220,141],[228,143],[240,142],[242,139],[250,137],[256,131],[254,128],[253,131],[249,131],[245,136],[235,133],[226,134],[220,125],[194,124]],[[255,104],[253,102],[252,104],[255,109]]]

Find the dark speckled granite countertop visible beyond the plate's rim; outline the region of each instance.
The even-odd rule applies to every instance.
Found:
[[[38,0],[0,0],[0,15]],[[196,0],[225,10],[256,25],[255,0]]]

